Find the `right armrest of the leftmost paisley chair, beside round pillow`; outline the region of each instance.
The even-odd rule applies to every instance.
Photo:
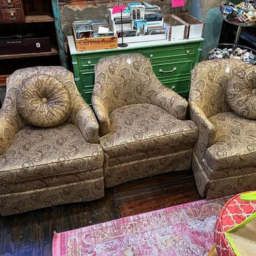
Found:
[[[90,106],[79,95],[76,97],[76,101],[73,102],[74,109],[70,114],[70,121],[77,126],[85,138],[85,141],[89,143],[99,143],[98,132],[99,125],[94,112]]]

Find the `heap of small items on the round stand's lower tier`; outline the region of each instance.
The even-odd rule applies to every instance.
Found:
[[[241,59],[242,61],[255,65],[256,64],[256,55],[255,51],[248,48],[240,48],[236,46],[233,50],[233,47],[225,47],[225,48],[213,48],[209,51],[208,56],[209,59],[224,59],[224,58],[233,58],[233,59]]]

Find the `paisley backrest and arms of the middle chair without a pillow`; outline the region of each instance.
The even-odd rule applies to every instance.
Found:
[[[186,118],[188,106],[182,96],[160,83],[150,59],[135,53],[98,61],[91,100],[100,122],[100,136],[110,131],[110,113],[122,106],[154,104],[177,119]]]

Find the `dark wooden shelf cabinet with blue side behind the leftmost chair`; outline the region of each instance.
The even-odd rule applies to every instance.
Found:
[[[57,0],[0,0],[0,47],[4,40],[17,38],[44,38],[50,47],[44,51],[24,52],[11,48],[0,51],[0,81],[18,68],[29,66],[61,65],[68,67],[63,42],[59,16],[59,1]],[[2,44],[1,44],[2,42]],[[35,44],[40,45],[40,41]],[[29,45],[27,45],[27,48]]]

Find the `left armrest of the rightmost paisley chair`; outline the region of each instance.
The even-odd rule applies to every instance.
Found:
[[[216,143],[216,129],[208,120],[203,109],[195,104],[190,105],[190,119],[196,124],[199,130],[199,137],[195,143],[195,151],[197,156],[202,159],[205,151]]]

